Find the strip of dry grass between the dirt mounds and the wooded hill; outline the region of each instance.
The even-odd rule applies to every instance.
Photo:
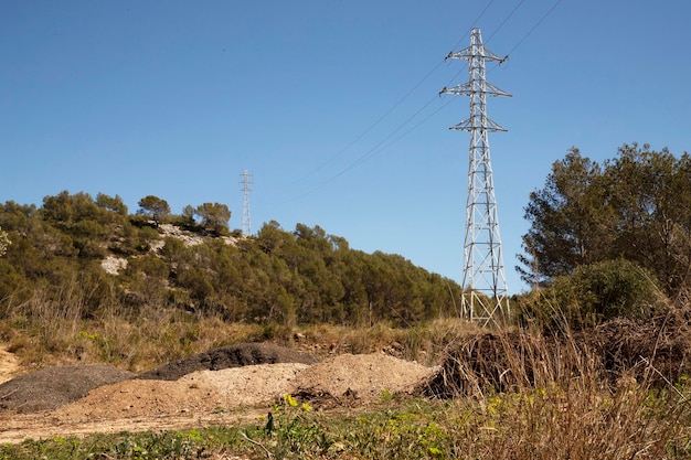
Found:
[[[478,332],[476,325],[457,319],[439,319],[412,329],[381,323],[354,329],[226,322],[155,304],[132,310],[113,302],[94,311],[83,290],[74,287],[68,284],[57,293],[36,289],[0,322],[0,340],[25,366],[109,363],[143,372],[223,345],[264,341],[319,357],[379,351],[432,365],[439,363],[453,340]]]

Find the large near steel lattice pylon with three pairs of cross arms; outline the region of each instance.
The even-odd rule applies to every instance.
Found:
[[[506,57],[497,56],[482,45],[480,29],[477,28],[470,32],[470,46],[456,53],[450,52],[446,57],[468,61],[470,75],[468,83],[440,92],[470,96],[470,118],[449,128],[470,131],[463,309],[471,321],[482,325],[490,322],[498,324],[498,317],[508,317],[510,307],[488,132],[506,129],[487,117],[486,97],[511,95],[485,79],[485,62],[502,63]]]

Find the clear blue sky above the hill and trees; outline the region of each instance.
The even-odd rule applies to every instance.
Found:
[[[555,7],[556,6],[556,7]],[[545,14],[555,7],[545,18]],[[253,231],[319,225],[461,278],[467,81],[479,26],[509,290],[523,207],[572,146],[680,154],[691,136],[685,0],[0,2],[0,202],[63,190],[221,202]],[[542,20],[542,22],[540,22]],[[533,30],[533,28],[535,28]],[[531,32],[532,30],[532,32]],[[382,118],[383,117],[383,118]]]

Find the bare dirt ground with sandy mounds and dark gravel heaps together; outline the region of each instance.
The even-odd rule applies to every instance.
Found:
[[[141,376],[105,365],[61,366],[15,376],[18,372],[15,356],[3,350],[0,443],[247,422],[258,420],[285,394],[317,409],[343,402],[360,407],[385,393],[413,391],[432,370],[383,353],[317,362],[273,345],[244,344]]]

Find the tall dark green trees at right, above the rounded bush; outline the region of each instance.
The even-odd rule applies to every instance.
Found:
[[[604,164],[575,148],[552,165],[525,207],[529,232],[518,267],[523,279],[552,286],[578,274],[604,279],[603,264],[645,270],[672,299],[691,291],[691,157],[624,145]],[[598,277],[586,274],[585,267]],[[613,274],[613,266],[606,270]],[[588,285],[591,286],[591,285]]]

